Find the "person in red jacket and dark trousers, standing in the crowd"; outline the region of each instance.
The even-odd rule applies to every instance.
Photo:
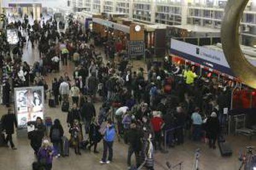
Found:
[[[163,129],[164,126],[164,121],[161,118],[161,111],[153,111],[153,118],[151,118],[151,124],[153,126],[153,130],[155,132],[155,139],[154,139],[154,146],[155,150],[159,149],[162,150],[161,148],[161,130]]]

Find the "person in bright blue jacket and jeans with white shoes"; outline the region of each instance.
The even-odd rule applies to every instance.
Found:
[[[114,124],[111,119],[108,119],[106,125],[106,132],[103,137],[103,158],[101,159],[101,164],[109,164],[113,159],[113,143],[116,136],[116,130],[114,129]],[[108,160],[106,160],[107,152],[109,152]]]

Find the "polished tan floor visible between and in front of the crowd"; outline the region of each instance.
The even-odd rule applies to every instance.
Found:
[[[26,60],[30,65],[35,60],[38,60],[38,51],[31,49],[30,46],[24,52],[23,60]],[[145,67],[143,62],[134,62],[134,69],[139,67]],[[74,65],[69,63],[67,67],[61,67],[59,73],[53,73],[46,77],[49,84],[51,79],[62,75],[65,71],[72,75]],[[45,103],[45,116],[51,116],[52,119],[59,118],[62,125],[64,126],[65,135],[69,137],[66,117],[67,113],[63,113],[59,107],[49,108],[48,102]],[[96,109],[98,111],[101,103],[96,103]],[[4,106],[0,107],[0,116],[6,113],[7,109]],[[155,169],[167,169],[166,161],[171,164],[177,164],[182,161],[182,169],[192,169],[194,164],[194,154],[197,148],[201,149],[199,158],[199,169],[209,170],[226,170],[226,169],[239,169],[239,151],[244,150],[247,145],[255,145],[256,139],[249,140],[244,136],[228,136],[226,137],[228,142],[233,148],[233,156],[229,158],[223,158],[220,155],[218,148],[216,150],[210,150],[206,144],[195,143],[186,139],[184,145],[177,146],[175,148],[168,149],[168,153],[156,153],[155,155]],[[17,169],[17,170],[29,170],[32,169],[32,163],[35,161],[33,150],[30,147],[30,141],[27,138],[17,138],[14,134],[14,143],[17,150],[11,150],[10,148],[0,148],[0,170],[5,169]],[[75,155],[74,151],[70,149],[70,156],[66,158],[54,158],[53,169],[127,169],[126,158],[127,158],[127,145],[117,140],[114,142],[114,160],[113,163],[108,165],[101,165],[99,163],[101,154],[103,151],[103,144],[100,142],[98,145],[100,153],[89,153],[88,151],[82,152],[81,156]],[[179,169],[179,168],[176,168]]]

